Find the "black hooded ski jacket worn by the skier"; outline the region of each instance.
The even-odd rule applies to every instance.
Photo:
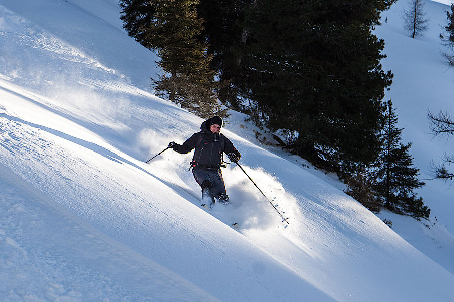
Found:
[[[207,128],[207,121],[200,125],[200,132],[194,133],[183,144],[177,145],[176,151],[181,154],[194,150],[191,163],[193,167],[217,169],[222,165],[223,153],[234,153],[241,157],[240,152],[234,147],[229,138],[221,133],[213,133]]]

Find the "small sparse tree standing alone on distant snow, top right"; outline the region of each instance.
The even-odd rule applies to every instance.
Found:
[[[404,10],[404,22],[404,28],[412,38],[424,35],[429,22],[424,12],[424,0],[409,0],[408,8]]]

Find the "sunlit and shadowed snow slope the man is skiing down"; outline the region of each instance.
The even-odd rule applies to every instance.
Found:
[[[239,114],[222,131],[289,225],[235,165],[223,170],[233,204],[207,213],[190,155],[145,164],[202,120],[147,91],[156,57],[118,11],[0,0],[0,299],[452,300],[446,258],[257,145]]]

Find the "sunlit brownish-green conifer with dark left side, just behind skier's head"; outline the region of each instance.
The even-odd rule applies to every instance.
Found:
[[[124,0],[122,19],[129,21],[125,28],[130,34],[160,58],[157,64],[163,74],[152,79],[157,96],[204,118],[225,117],[227,109],[221,109],[217,100],[215,72],[210,69],[212,56],[199,40],[203,19],[197,4],[198,0],[152,0],[140,6]]]

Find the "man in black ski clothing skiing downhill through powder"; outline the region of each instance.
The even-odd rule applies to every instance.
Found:
[[[210,208],[214,205],[214,198],[219,203],[228,204],[229,196],[225,192],[225,184],[222,178],[221,167],[223,154],[236,163],[240,160],[241,154],[234,147],[233,143],[219,133],[222,128],[222,118],[213,116],[202,123],[201,131],[194,133],[183,144],[174,141],[168,146],[180,154],[189,153],[194,150],[191,161],[192,173],[195,180],[202,188],[202,201]]]

